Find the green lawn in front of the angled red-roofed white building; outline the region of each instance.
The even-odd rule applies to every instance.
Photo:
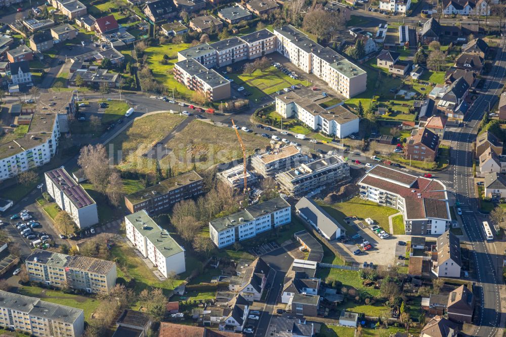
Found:
[[[341,202],[335,205],[323,205],[323,208],[337,220],[341,225],[348,228],[351,226],[344,221],[344,218],[349,216],[357,216],[359,218],[371,218],[378,226],[389,228],[388,217],[392,214],[399,212],[398,210],[386,206],[379,206],[378,204],[354,197],[346,202]],[[350,228],[350,232],[354,233],[356,230]]]

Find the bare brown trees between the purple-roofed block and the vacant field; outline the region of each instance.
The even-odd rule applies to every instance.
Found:
[[[109,165],[104,145],[88,145],[81,148],[77,164],[98,192],[106,195],[112,205],[119,205],[123,182],[119,172]]]

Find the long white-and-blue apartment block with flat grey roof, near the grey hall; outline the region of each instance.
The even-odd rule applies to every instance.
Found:
[[[291,206],[282,197],[251,205],[209,222],[209,236],[218,248],[255,237],[291,221]]]

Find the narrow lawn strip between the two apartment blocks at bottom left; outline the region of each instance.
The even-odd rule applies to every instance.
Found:
[[[85,296],[63,293],[61,291],[43,289],[32,286],[21,286],[19,293],[25,296],[40,298],[43,301],[56,303],[72,308],[82,309],[85,312],[85,321],[89,322],[91,314],[97,309],[100,301]]]

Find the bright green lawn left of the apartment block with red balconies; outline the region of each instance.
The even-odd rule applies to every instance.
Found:
[[[174,64],[178,62],[178,52],[189,47],[189,44],[168,44],[163,46],[149,47],[144,51],[148,57],[147,62],[149,68],[153,72],[153,77],[158,82],[162,83],[167,90],[174,89],[175,97],[179,97],[176,95],[178,92],[184,96],[189,96],[192,94],[191,90],[174,79],[174,76],[172,75]],[[169,57],[168,63],[166,65],[160,63],[160,61],[163,60],[163,55],[167,55]]]

